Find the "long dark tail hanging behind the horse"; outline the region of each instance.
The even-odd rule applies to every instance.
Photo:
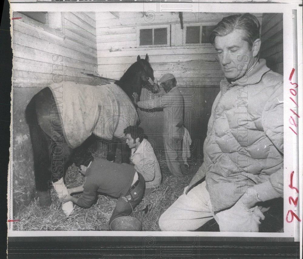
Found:
[[[38,123],[36,113],[36,95],[28,103],[25,109],[25,118],[29,126],[29,133],[32,140],[35,183],[41,205],[43,201],[41,200],[42,197],[40,196],[39,192],[48,193],[49,181],[52,179],[52,172],[48,169],[48,166],[50,166],[50,157],[46,139],[47,135],[42,131]],[[44,199],[50,199],[50,196],[48,196],[49,195],[46,195]]]

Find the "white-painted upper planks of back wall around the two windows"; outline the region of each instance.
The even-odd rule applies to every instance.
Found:
[[[228,13],[183,13],[183,23],[215,25]],[[262,14],[255,14],[261,21]],[[118,17],[116,17],[118,16]],[[183,30],[178,13],[156,13],[152,22],[142,12],[96,13],[98,72],[119,79],[136,61],[148,53],[155,77],[172,73],[179,85],[217,86],[223,78],[217,54],[211,44],[183,46]],[[169,25],[171,46],[137,46],[137,27]]]

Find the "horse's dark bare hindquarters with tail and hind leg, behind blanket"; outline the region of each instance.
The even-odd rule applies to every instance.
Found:
[[[53,182],[64,179],[72,149],[63,136],[58,109],[48,87],[32,98],[25,113],[32,139],[39,203],[50,206],[49,187]]]

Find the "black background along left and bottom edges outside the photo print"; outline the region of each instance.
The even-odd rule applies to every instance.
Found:
[[[5,258],[7,236],[7,171],[10,139],[12,49],[9,3],[3,5],[0,92],[0,208],[1,249]],[[288,238],[203,237],[10,237],[8,258],[295,258],[299,242]]]

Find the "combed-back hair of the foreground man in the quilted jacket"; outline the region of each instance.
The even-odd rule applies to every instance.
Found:
[[[246,13],[244,15],[230,15],[223,18],[209,35],[211,44],[215,43],[216,36],[225,36],[234,30],[244,31],[244,41],[247,41],[250,48],[254,41],[260,38],[260,23],[255,15]]]

